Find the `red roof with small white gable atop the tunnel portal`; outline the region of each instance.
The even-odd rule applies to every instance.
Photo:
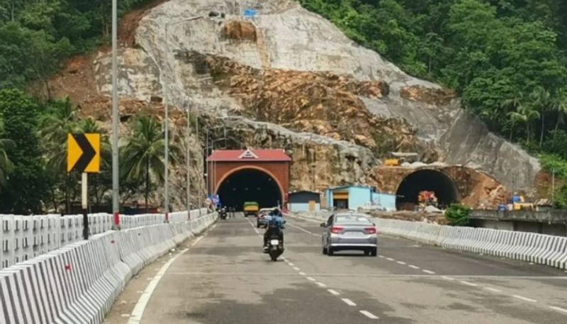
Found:
[[[215,150],[207,157],[210,162],[288,162],[291,157],[283,150]]]

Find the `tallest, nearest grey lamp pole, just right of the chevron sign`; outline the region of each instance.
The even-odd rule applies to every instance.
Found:
[[[118,23],[117,0],[112,0],[112,211],[113,229],[120,229],[120,206],[118,201]]]

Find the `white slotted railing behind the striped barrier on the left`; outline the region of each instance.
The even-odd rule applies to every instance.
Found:
[[[193,210],[191,219],[206,213],[206,208]],[[121,215],[120,228],[160,224],[164,223],[164,219],[163,214]],[[169,214],[170,223],[181,223],[186,220],[188,220],[187,211]],[[0,215],[0,223],[0,269],[83,240],[82,215]],[[112,224],[111,214],[89,214],[89,236],[111,230]]]

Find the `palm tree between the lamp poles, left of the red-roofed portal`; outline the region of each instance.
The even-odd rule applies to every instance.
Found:
[[[164,182],[164,150],[165,139],[162,124],[155,116],[138,116],[134,120],[132,134],[127,144],[120,150],[123,161],[123,174],[130,180],[145,182],[145,208],[150,196],[150,174],[159,183]],[[169,144],[169,161],[176,164],[179,147]]]

